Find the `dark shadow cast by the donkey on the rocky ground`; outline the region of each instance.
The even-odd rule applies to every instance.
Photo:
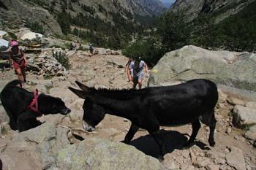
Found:
[[[191,147],[193,144],[196,144],[202,150],[208,150],[207,145],[203,142],[194,142],[189,147],[184,147],[184,144],[187,142],[188,134],[181,134],[178,131],[165,131],[161,130],[161,135],[164,137],[165,142],[165,154],[173,152],[173,150],[184,150]],[[141,152],[144,152],[146,155],[150,155],[154,158],[158,158],[159,155],[159,147],[157,143],[154,141],[154,138],[148,134],[146,136],[140,136],[138,139],[130,142],[130,145],[136,147]]]

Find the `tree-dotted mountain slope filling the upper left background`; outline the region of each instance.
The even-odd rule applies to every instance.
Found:
[[[143,32],[143,19],[159,15],[159,0],[0,0],[0,25],[45,35],[75,34],[87,42],[119,48]]]

